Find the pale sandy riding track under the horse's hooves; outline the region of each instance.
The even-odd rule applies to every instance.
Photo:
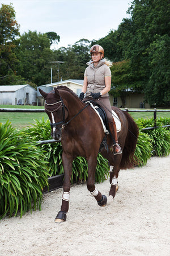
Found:
[[[41,212],[0,221],[2,255],[170,255],[170,155],[121,170],[112,203],[100,208],[86,185],[71,187],[67,221],[55,224],[62,189],[44,195]],[[108,195],[109,180],[96,184]]]

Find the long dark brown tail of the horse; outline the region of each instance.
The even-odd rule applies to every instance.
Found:
[[[121,169],[131,168],[135,164],[134,152],[137,145],[139,130],[134,119],[128,112],[124,112],[128,119],[128,134],[125,140],[124,150],[122,152]]]

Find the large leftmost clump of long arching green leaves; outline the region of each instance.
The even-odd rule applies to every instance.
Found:
[[[48,185],[43,155],[10,123],[0,123],[0,219],[41,209],[42,189]]]

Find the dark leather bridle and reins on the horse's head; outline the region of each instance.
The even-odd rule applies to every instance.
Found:
[[[45,104],[48,105],[48,106],[53,106],[53,105],[56,105],[56,104],[58,104],[58,103],[61,103],[61,105],[59,105],[59,107],[58,107],[57,109],[54,109],[53,111],[50,112],[50,113],[56,112],[56,111],[57,111],[59,108],[61,108],[61,106],[62,106],[62,115],[63,115],[62,121],[57,122],[57,123],[50,123],[50,126],[51,126],[52,129],[53,129],[53,128],[56,128],[56,129],[58,129],[58,130],[62,130],[64,126],[68,125],[77,115],[79,115],[84,109],[87,108],[88,105],[90,105],[90,102],[88,102],[87,105],[84,106],[83,109],[81,109],[76,115],[74,115],[74,117],[72,117],[68,122],[66,122],[66,118],[65,118],[65,117],[66,117],[65,109],[67,110],[67,112],[69,112],[69,110],[67,109],[66,105],[63,103],[62,98],[60,97],[60,101],[55,102],[55,103],[53,103],[53,104],[48,104],[48,103],[46,103],[46,101],[45,101]],[[58,127],[59,125],[61,125],[61,126]]]

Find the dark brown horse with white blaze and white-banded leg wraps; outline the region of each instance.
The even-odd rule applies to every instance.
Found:
[[[95,188],[95,171],[97,154],[105,133],[99,116],[90,105],[79,100],[78,96],[66,86],[58,86],[50,93],[41,89],[40,93],[45,98],[45,112],[50,119],[52,137],[62,144],[62,163],[65,174],[63,182],[63,194],[61,210],[58,212],[55,222],[66,221],[66,213],[69,210],[70,178],[72,163],[76,156],[83,156],[88,163],[87,188],[95,197],[97,203],[103,207],[107,204],[107,197]],[[138,138],[138,127],[133,118],[126,112],[113,107],[121,121],[121,131],[118,132],[118,142],[122,148],[122,154],[113,155],[112,139],[107,136],[109,150],[101,148],[101,154],[110,164],[111,189],[109,196],[116,195],[117,177],[121,169],[133,166],[133,156]],[[113,167],[114,166],[114,167]]]

